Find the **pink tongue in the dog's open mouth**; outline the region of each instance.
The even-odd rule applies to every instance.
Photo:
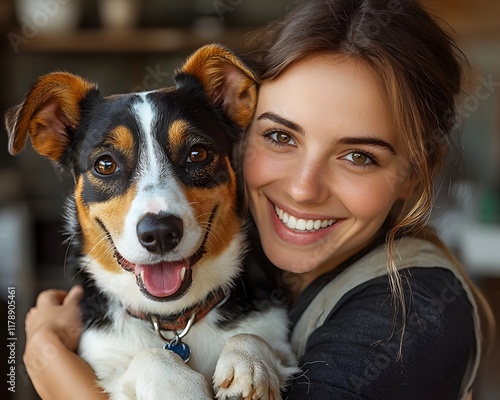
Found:
[[[135,275],[141,276],[142,283],[149,294],[167,297],[179,290],[182,284],[182,268],[189,268],[188,260],[162,262],[154,265],[136,265]]]

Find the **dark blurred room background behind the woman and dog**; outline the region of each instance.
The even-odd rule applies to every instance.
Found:
[[[474,66],[459,102],[461,135],[437,187],[433,222],[499,318],[500,2],[423,3],[453,31]],[[103,94],[169,86],[174,69],[197,47],[217,41],[241,49],[244,34],[282,17],[294,4],[0,0],[0,113],[19,103],[39,75],[54,70],[99,82]],[[17,378],[11,398],[30,400],[37,396],[22,364],[24,316],[40,290],[71,285],[73,272],[64,266],[66,247],[61,244],[61,211],[72,181],[29,145],[21,155],[10,156],[3,123],[0,130],[0,299],[6,301],[13,287],[16,301]],[[2,321],[6,310],[2,305]],[[7,337],[6,326],[0,336]],[[2,368],[7,357],[2,357]],[[500,399],[499,377],[497,342],[481,368],[475,400]]]

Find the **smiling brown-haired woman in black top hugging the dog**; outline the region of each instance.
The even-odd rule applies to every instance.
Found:
[[[284,397],[465,398],[491,316],[427,226],[460,53],[409,0],[308,1],[259,40],[242,173],[290,293],[302,374]],[[27,318],[27,365],[50,340],[66,350],[61,326],[74,322],[78,296],[42,293]]]

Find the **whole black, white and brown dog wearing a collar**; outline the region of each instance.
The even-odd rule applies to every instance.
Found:
[[[284,308],[255,297],[233,153],[257,96],[240,56],[206,45],[175,87],[103,97],[44,75],[9,110],[9,151],[73,174],[79,354],[112,399],[279,399],[297,372]],[[253,296],[253,297],[252,297]]]

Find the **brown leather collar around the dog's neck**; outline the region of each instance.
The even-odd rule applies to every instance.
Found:
[[[145,314],[136,313],[131,310],[127,311],[133,317],[140,318],[145,321],[151,321],[153,323],[153,328],[155,328],[156,331],[161,330],[176,332],[181,329],[186,330],[186,328],[190,328],[194,323],[204,318],[212,309],[214,309],[227,297],[228,295],[226,292],[220,289],[215,292],[211,292],[202,303],[187,308],[181,313],[172,315]]]

